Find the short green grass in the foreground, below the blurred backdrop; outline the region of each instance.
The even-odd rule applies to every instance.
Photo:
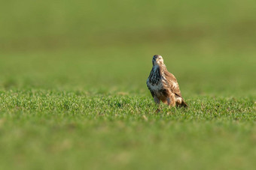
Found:
[[[251,99],[191,97],[156,113],[151,98],[70,91],[0,93],[1,168],[253,169]]]

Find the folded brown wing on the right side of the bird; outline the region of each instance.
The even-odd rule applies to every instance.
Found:
[[[175,76],[172,73],[169,73],[168,70],[164,70],[163,73],[172,93],[175,93],[178,97],[181,97],[181,91],[179,90],[178,82]]]

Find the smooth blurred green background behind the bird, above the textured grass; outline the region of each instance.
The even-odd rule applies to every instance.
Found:
[[[148,94],[163,55],[184,95],[255,95],[256,2],[2,1],[0,88]]]

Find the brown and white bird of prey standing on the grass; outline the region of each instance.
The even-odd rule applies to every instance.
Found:
[[[151,91],[154,102],[160,107],[160,101],[169,107],[187,107],[187,103],[181,96],[178,82],[175,76],[166,68],[161,55],[152,58],[153,67],[147,79],[148,90]]]

